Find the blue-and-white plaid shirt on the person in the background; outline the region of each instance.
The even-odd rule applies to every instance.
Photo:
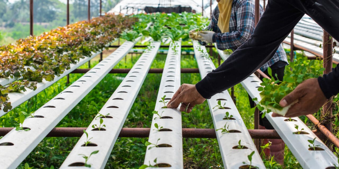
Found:
[[[205,30],[216,32],[213,35],[213,42],[216,42],[218,49],[232,49],[234,51],[251,37],[255,28],[254,10],[254,0],[233,0],[230,32],[221,33],[218,27],[219,8],[217,6],[214,9],[211,22]],[[263,9],[260,5],[260,17],[262,13]],[[288,64],[286,52],[281,44],[273,58],[264,64],[260,70],[265,71],[278,61],[284,61]]]

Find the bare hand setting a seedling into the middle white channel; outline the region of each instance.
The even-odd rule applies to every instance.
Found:
[[[181,103],[180,111],[185,112],[187,107],[187,113],[190,113],[196,104],[201,104],[205,100],[194,84],[182,84],[167,103],[167,108],[177,108]]]

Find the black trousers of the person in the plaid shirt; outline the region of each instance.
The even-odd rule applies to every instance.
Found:
[[[282,80],[283,80],[283,77],[284,77],[284,71],[285,71],[285,67],[277,68],[277,69],[272,69],[272,75],[273,75],[273,76],[277,75],[277,76],[275,76],[274,78],[275,78],[275,79],[279,79],[280,81],[282,81]],[[265,70],[264,73],[265,73],[267,76],[271,77],[271,76],[268,74],[267,70]],[[260,79],[262,80],[263,77],[260,77]],[[252,100],[252,98],[250,97],[250,95],[248,95],[248,99],[249,99],[249,101],[250,101],[250,106],[251,106],[251,108],[253,108],[253,107],[254,107],[254,101]],[[266,129],[273,130],[274,128],[273,128],[272,124],[268,121],[268,119],[267,119],[266,117],[261,118],[261,115],[262,115],[262,113],[260,112],[259,124],[262,125],[262,126],[264,126]]]

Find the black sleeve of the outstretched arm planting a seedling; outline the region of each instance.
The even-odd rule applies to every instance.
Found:
[[[303,15],[285,1],[268,1],[251,38],[196,84],[198,92],[204,98],[210,98],[251,75],[273,57]]]

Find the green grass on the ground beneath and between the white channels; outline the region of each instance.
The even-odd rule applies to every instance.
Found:
[[[184,49],[182,49],[184,50]],[[107,55],[107,52],[104,52]],[[132,68],[137,61],[134,54],[122,59],[115,68]],[[104,56],[105,57],[105,56]],[[299,57],[299,56],[298,56]],[[301,57],[301,56],[300,56]],[[162,68],[166,55],[158,54],[151,68]],[[91,62],[91,67],[98,63],[98,57]],[[216,59],[213,59],[217,63]],[[80,68],[87,68],[87,63]],[[195,58],[192,55],[182,55],[181,68],[197,68]],[[71,84],[83,74],[71,74]],[[77,104],[56,127],[87,127],[97,114],[97,110],[104,105],[107,99],[119,86],[121,80],[117,77],[124,77],[126,74],[108,74],[101,82]],[[195,84],[200,80],[200,75],[181,74],[181,83]],[[140,89],[140,92],[128,114],[123,127],[151,127],[152,111],[154,110],[161,74],[148,74]],[[66,77],[53,84],[51,87],[40,92],[28,101],[24,102],[13,111],[0,118],[0,126],[14,127],[18,124],[18,117],[21,111],[33,113],[45,102],[52,99],[70,84],[66,84]],[[229,91],[230,92],[230,91]],[[254,128],[254,119],[248,113],[250,105],[244,88],[238,84],[235,86],[236,106],[242,115],[243,121],[248,129]],[[337,108],[337,107],[336,107]],[[301,117],[308,126],[313,126],[309,120]],[[335,124],[339,123],[336,121]],[[212,118],[207,102],[197,105],[191,113],[182,114],[183,128],[213,128]],[[78,138],[44,138],[39,145],[27,156],[19,168],[24,168],[25,163],[34,168],[58,168],[67,157]],[[138,168],[143,164],[146,147],[144,143],[147,138],[118,138],[105,168],[126,169]],[[206,169],[222,168],[223,163],[218,147],[217,139],[184,138],[183,139],[184,168]],[[264,160],[267,168],[287,169],[301,168],[293,154],[285,146],[285,165],[280,166],[270,158]]]

